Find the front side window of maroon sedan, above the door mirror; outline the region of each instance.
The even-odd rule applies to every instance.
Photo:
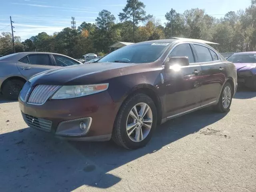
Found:
[[[168,58],[171,57],[179,57],[179,56],[186,56],[188,57],[189,63],[194,63],[194,55],[193,52],[191,50],[191,47],[189,44],[180,44],[178,46],[176,46],[172,52],[170,53],[170,55],[168,56]]]

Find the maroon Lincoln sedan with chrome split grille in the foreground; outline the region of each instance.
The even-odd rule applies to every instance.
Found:
[[[145,146],[172,118],[214,105],[228,112],[236,68],[199,40],[154,40],[120,48],[95,63],[48,70],[19,96],[28,126],[72,140],[111,138]]]

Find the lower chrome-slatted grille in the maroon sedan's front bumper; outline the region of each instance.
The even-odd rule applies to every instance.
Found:
[[[28,126],[30,126],[32,128],[44,130],[46,132],[51,131],[51,127],[52,127],[51,121],[37,118],[37,117],[27,115],[24,113],[21,113],[21,114],[22,114],[22,117],[23,117],[24,121],[26,122],[26,124],[28,124]]]

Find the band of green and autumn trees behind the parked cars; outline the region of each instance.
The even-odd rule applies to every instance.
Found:
[[[214,45],[220,52],[239,52],[256,49],[256,0],[246,10],[230,11],[216,19],[203,9],[193,8],[184,13],[170,9],[166,13],[167,23],[147,15],[144,3],[127,0],[120,13],[121,22],[108,10],[99,12],[96,23],[82,22],[77,30],[64,28],[48,35],[41,32],[21,42],[14,37],[16,52],[42,51],[65,54],[73,58],[94,52],[99,56],[109,52],[109,46],[121,42],[140,42],[174,37],[196,38],[219,43]],[[11,54],[12,34],[0,34],[0,55]]]

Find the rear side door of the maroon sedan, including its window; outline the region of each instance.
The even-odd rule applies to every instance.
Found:
[[[226,69],[220,56],[211,48],[202,44],[193,44],[198,64],[202,66],[202,105],[219,99],[225,82]]]

